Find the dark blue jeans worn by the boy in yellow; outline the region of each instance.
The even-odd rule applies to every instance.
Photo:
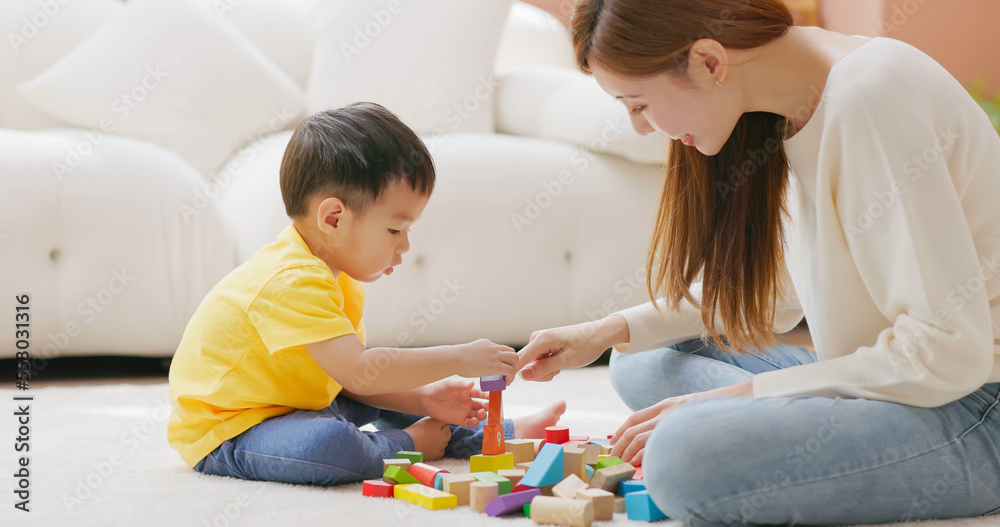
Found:
[[[259,481],[337,485],[382,477],[382,460],[413,450],[402,429],[422,416],[381,410],[345,396],[322,410],[272,417],[222,443],[195,465],[203,474]],[[359,427],[375,423],[378,432]],[[505,439],[513,439],[510,419]],[[483,448],[483,424],[451,427],[445,457],[468,458]]]

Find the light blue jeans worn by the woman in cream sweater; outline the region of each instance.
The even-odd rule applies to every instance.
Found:
[[[815,362],[803,347],[749,355],[700,340],[611,357],[639,410]],[[680,406],[646,443],[643,475],[695,527],[846,525],[1000,513],[1000,383],[938,408],[867,399],[723,397]]]

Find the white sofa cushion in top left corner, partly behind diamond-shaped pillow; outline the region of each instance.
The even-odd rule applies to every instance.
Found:
[[[54,64],[122,9],[118,0],[3,0],[0,8],[0,128],[69,126],[14,90]]]

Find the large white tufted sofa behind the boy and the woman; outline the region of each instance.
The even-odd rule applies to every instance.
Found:
[[[288,224],[278,189],[279,162],[298,120],[329,104],[324,94],[340,90],[357,100],[386,93],[372,100],[400,108],[397,113],[417,124],[420,116],[408,119],[408,101],[439,95],[413,78],[398,87],[402,102],[393,99],[392,91],[359,88],[355,93],[353,85],[336,86],[338,76],[327,75],[322,82],[311,78],[323,61],[333,60],[320,51],[324,39],[327,51],[336,49],[330,48],[329,24],[341,18],[324,14],[330,4],[230,0],[226,5],[236,8],[216,13],[221,23],[282,70],[282,82],[294,81],[303,105],[290,117],[276,113],[261,121],[269,123],[263,131],[274,133],[255,133],[257,140],[229,150],[220,169],[206,173],[197,168],[211,158],[198,157],[204,152],[189,155],[155,133],[147,137],[138,121],[127,123],[132,129],[120,127],[123,133],[100,132],[81,124],[87,122],[83,107],[88,100],[64,105],[63,99],[80,96],[73,90],[90,90],[91,82],[117,74],[113,65],[101,69],[96,64],[104,59],[95,62],[96,73],[74,72],[65,62],[73,58],[70,53],[82,60],[88,52],[83,43],[99,31],[107,37],[106,26],[126,16],[123,12],[136,1],[123,7],[114,0],[15,0],[0,14],[0,33],[25,36],[21,49],[13,52],[12,45],[0,51],[0,298],[13,313],[14,297],[30,295],[36,357],[170,356],[204,294]],[[167,6],[175,0],[141,1],[171,9]],[[410,10],[403,11],[405,16],[426,16],[416,11],[418,4],[399,1]],[[460,0],[421,3],[449,1]],[[209,3],[218,11],[219,1]],[[366,3],[376,7],[361,5]],[[377,4],[351,4],[378,22]],[[393,6],[392,1],[381,4],[387,10]],[[58,7],[54,14],[45,10],[53,6]],[[495,60],[492,49],[483,58],[494,74],[462,79],[483,86],[469,93],[486,94],[477,95],[482,106],[477,110],[485,112],[482,122],[472,123],[478,128],[465,130],[469,123],[463,122],[442,132],[411,124],[432,151],[437,186],[413,229],[403,265],[366,287],[369,345],[480,337],[520,345],[533,330],[597,318],[645,299],[643,262],[665,145],[656,137],[637,136],[623,108],[574,70],[568,34],[555,19],[527,5],[511,6],[510,0],[490,9],[480,13],[489,19],[483,28],[466,27],[471,23],[467,14],[463,22],[448,22],[448,12],[439,12],[435,16],[443,25],[406,37],[405,46],[394,44],[390,34],[409,24],[399,15],[398,23],[390,21],[377,31],[389,52],[373,44],[370,52],[351,57],[373,63],[361,69],[352,65],[354,81],[344,75],[343,82],[361,86],[372,80],[372,72],[391,70],[378,64],[383,57],[403,55],[412,62],[439,52],[434,50],[464,51],[461,34],[470,31],[493,31],[499,39],[498,45],[493,42]],[[325,30],[317,22],[324,16]],[[375,31],[365,23],[355,20],[340,34]],[[32,26],[34,34],[26,38]],[[126,34],[145,38],[141,31]],[[138,53],[142,45],[129,42],[122,53]],[[431,64],[418,75],[433,79],[450,68]],[[451,69],[461,73],[462,68]],[[201,73],[206,84],[216,82],[212,71]],[[67,82],[72,75],[82,76]],[[455,71],[448,75],[454,81]],[[220,83],[231,81],[219,76]],[[186,95],[176,93],[181,99]],[[242,95],[242,90],[232,94]],[[230,102],[220,99],[219,105]],[[181,103],[160,100],[137,108],[160,104]],[[225,126],[256,110],[241,104],[242,110],[221,116]],[[149,118],[154,131],[164,123],[181,127],[182,139],[188,139],[186,121],[173,122],[172,115],[148,110],[135,119]],[[192,136],[204,132],[191,126]],[[199,139],[195,146],[204,142]],[[0,340],[0,357],[15,351],[13,339]]]

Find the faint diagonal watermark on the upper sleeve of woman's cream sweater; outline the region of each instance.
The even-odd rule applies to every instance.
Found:
[[[944,162],[945,154],[957,141],[958,134],[953,127],[947,130],[938,128],[934,144],[903,163],[901,169],[906,176],[905,179],[893,178],[889,188],[872,192],[872,199],[868,205],[856,209],[854,221],[844,227],[848,239],[853,241],[871,229],[879,218],[900,202],[900,198],[909,190],[910,185],[919,181],[935,164]]]

